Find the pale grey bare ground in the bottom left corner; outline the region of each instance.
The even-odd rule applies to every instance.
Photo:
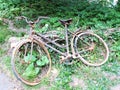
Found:
[[[10,61],[8,60],[7,64],[5,61],[6,58],[9,58],[8,43],[4,43],[0,45],[0,48],[4,51],[0,56],[0,89],[1,90],[24,90],[22,83],[15,78],[12,73]],[[7,66],[6,66],[7,65]]]

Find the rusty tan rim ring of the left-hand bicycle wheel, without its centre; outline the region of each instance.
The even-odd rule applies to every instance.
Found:
[[[48,60],[49,60],[49,66],[48,66],[48,69],[47,69],[47,71],[45,72],[45,74],[42,75],[41,78],[38,77],[38,78],[36,79],[36,81],[35,81],[35,80],[32,80],[32,81],[30,80],[30,81],[29,81],[29,80],[25,79],[24,77],[22,77],[21,74],[20,74],[20,72],[18,71],[18,68],[16,67],[16,59],[15,59],[16,57],[15,57],[15,56],[17,55],[17,53],[18,53],[18,51],[19,51],[19,49],[20,49],[20,47],[21,47],[22,45],[24,45],[24,44],[26,44],[26,43],[31,43],[31,42],[32,42],[32,41],[29,40],[29,39],[23,40],[22,42],[20,42],[20,43],[16,46],[16,48],[15,48],[14,51],[13,51],[11,64],[12,64],[12,70],[13,70],[15,76],[16,76],[20,81],[22,81],[23,83],[25,83],[25,84],[27,84],[27,85],[32,85],[32,86],[33,86],[33,85],[39,84],[40,81],[50,73],[50,70],[51,70],[51,58],[50,58],[50,55],[49,55],[47,49],[45,48],[45,46],[44,46],[41,42],[38,43],[38,42],[36,42],[36,41],[33,41],[35,44],[37,44],[38,46],[40,46],[40,48],[42,48],[43,51],[46,53],[47,58],[48,58]],[[42,69],[43,69],[43,68],[42,68]]]

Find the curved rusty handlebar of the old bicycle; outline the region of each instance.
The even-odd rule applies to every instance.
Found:
[[[16,19],[19,19],[19,20],[22,20],[22,19],[25,19],[25,21],[30,24],[30,23],[38,23],[41,19],[49,19],[49,17],[46,17],[46,16],[39,16],[37,20],[35,21],[28,21],[27,17],[25,16],[19,16],[19,17],[16,17]]]

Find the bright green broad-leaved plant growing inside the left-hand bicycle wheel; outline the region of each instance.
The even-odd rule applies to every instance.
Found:
[[[36,77],[37,74],[40,73],[41,68],[49,63],[49,60],[46,56],[42,56],[40,60],[37,60],[35,56],[30,54],[24,57],[24,61],[26,63],[30,63],[23,73],[23,76],[28,79]],[[37,64],[37,67],[35,64]]]

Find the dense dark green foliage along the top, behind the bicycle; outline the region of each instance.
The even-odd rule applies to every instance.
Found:
[[[57,2],[56,2],[57,1]],[[105,0],[89,2],[88,0],[0,0],[0,16],[50,16],[75,18],[77,27],[111,28],[120,23],[120,1],[116,8]],[[56,19],[52,19],[56,23]],[[52,23],[51,22],[51,23]],[[55,26],[59,26],[55,25]]]

